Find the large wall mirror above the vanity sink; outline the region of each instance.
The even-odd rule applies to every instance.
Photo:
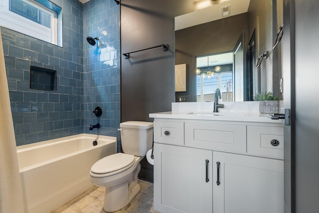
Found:
[[[194,2],[203,3],[205,0]],[[259,91],[276,93],[273,84],[279,75],[277,63],[273,64],[273,57],[277,56],[272,54],[278,26],[276,0],[210,0],[209,3],[208,7],[195,8],[197,10],[175,17],[175,64],[186,64],[187,88],[186,92],[175,93],[176,102],[213,101],[214,89],[206,92],[210,98],[198,98],[200,92],[196,88],[200,87],[200,77],[196,74],[196,58],[227,52],[233,53],[236,64],[218,65],[214,60],[211,61],[213,66],[209,61],[207,67],[203,66],[206,74],[211,71],[216,74],[216,66],[232,66],[232,82],[228,80],[225,85],[215,83],[225,88],[223,97],[229,93],[226,88],[229,89],[230,85],[232,101],[251,101]],[[203,16],[195,18],[198,15]],[[256,58],[266,51],[269,51],[269,57],[256,68]]]

